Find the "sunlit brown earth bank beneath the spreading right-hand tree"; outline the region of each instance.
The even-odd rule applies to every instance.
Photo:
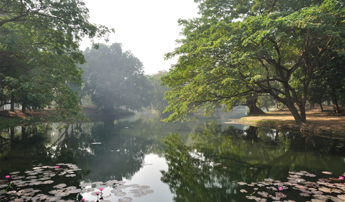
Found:
[[[308,135],[345,137],[345,113],[333,115],[333,106],[322,105],[310,109],[306,106],[307,123],[302,127],[296,125],[291,112],[285,107],[266,114],[246,116],[239,120],[242,124],[262,128],[302,132]],[[343,109],[344,110],[344,109]]]

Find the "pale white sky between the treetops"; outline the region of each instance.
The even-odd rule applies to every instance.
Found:
[[[115,29],[111,43],[122,43],[144,65],[145,74],[169,70],[176,59],[164,61],[164,54],[177,47],[181,38],[178,19],[198,16],[194,0],[83,0],[89,9],[90,22]],[[95,41],[105,43],[102,41]],[[91,47],[89,39],[83,40],[81,49]]]

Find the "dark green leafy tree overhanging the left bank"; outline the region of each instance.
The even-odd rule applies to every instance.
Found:
[[[79,43],[113,30],[88,22],[81,0],[2,0],[0,14],[0,104],[21,104],[24,112],[53,106],[63,119],[77,115],[71,86],[82,85]]]

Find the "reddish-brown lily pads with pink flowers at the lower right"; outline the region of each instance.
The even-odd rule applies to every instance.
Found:
[[[329,171],[323,171],[322,173],[333,174]],[[307,202],[307,200],[310,200],[308,202],[326,202],[328,200],[333,202],[345,202],[345,184],[340,182],[344,179],[343,176],[345,176],[345,173],[338,178],[318,178],[316,182],[307,181],[302,178],[303,176],[316,177],[315,174],[311,174],[307,171],[290,171],[289,174],[287,182],[267,178],[262,182],[252,182],[250,184],[238,182],[238,184],[254,187],[253,192],[249,196],[246,196],[246,198],[255,200],[256,202],[267,202],[268,200],[272,200],[273,202],[295,202],[288,200],[287,195],[284,194],[284,190],[289,188],[299,192],[294,192],[294,195],[299,194],[302,197],[306,197],[306,200],[303,200],[305,202]],[[264,188],[266,188],[265,191],[258,191]],[[248,193],[246,189],[241,189],[240,192]]]

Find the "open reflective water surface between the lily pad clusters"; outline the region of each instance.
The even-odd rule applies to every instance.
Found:
[[[137,202],[242,202],[246,199],[239,192],[240,181],[268,177],[286,181],[288,171],[306,170],[324,178],[329,177],[322,176],[324,170],[338,176],[344,172],[344,140],[224,124],[229,118],[172,124],[153,114],[138,114],[73,125],[9,128],[1,132],[0,178],[39,163],[72,163],[82,169],[70,182],[76,187],[80,182],[126,180],[154,188],[150,198]],[[152,163],[145,161],[157,165],[141,165]],[[161,182],[148,176],[157,172]],[[170,191],[156,192],[167,185]],[[298,195],[290,200],[305,198]]]

